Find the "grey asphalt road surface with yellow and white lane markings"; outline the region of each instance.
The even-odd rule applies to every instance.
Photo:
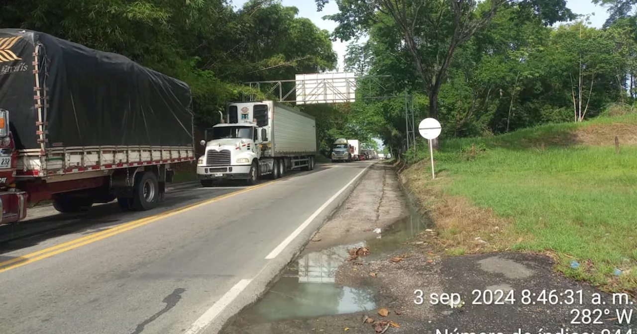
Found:
[[[153,211],[98,205],[0,228],[2,333],[215,333],[253,302],[369,162],[254,187],[175,189]],[[36,215],[38,217],[38,215]]]

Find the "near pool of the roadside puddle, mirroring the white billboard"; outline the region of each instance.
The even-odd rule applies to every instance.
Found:
[[[365,242],[341,245],[306,254],[266,295],[246,310],[244,317],[280,320],[347,314],[376,308],[371,289],[336,286],[336,270],[347,261],[348,249]]]

